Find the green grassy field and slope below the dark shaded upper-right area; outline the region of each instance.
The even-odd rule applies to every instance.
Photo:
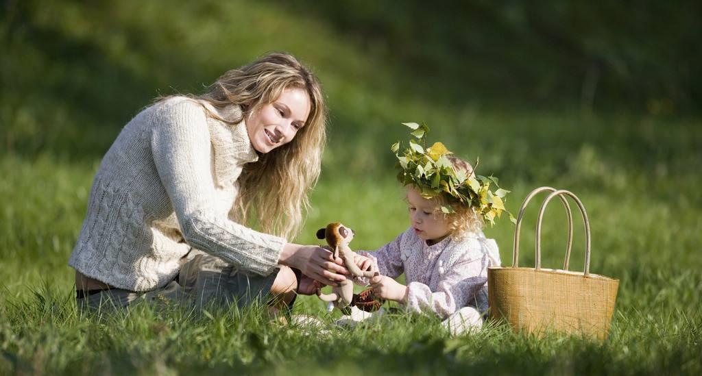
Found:
[[[150,1],[138,13],[129,1],[55,4],[8,6],[0,28],[0,374],[702,373],[696,114],[484,102],[480,93],[453,95],[461,88],[446,88],[458,99],[444,100],[430,76],[409,79],[411,65],[395,69],[383,48],[275,2]],[[178,22],[154,25],[166,18]],[[505,325],[451,337],[438,319],[407,314],[352,330],[302,328],[272,323],[257,308],[136,307],[79,317],[67,258],[92,177],[121,126],[158,93],[199,91],[272,50],[310,62],[331,109],[324,170],[297,242],[317,243],[314,232],[334,220],[355,228],[356,249],[375,249],[405,229],[389,148],[404,137],[401,122],[425,121],[430,141],[479,156],[479,173],[500,177],[512,190],[512,213],[540,185],[581,197],[592,224],[590,271],[620,280],[609,338],[537,338]],[[527,214],[522,266],[534,262],[536,208]],[[546,221],[543,266],[557,267],[562,209],[553,205]],[[576,223],[571,269],[580,270]],[[513,231],[507,220],[485,229],[503,264]],[[300,297],[295,310],[325,323],[338,317],[314,297]]]

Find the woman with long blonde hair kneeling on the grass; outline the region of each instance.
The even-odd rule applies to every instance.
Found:
[[[343,281],[328,250],[286,241],[319,176],[325,121],[319,81],[284,53],[137,114],[100,163],[69,260],[79,305],[269,292],[291,304]]]

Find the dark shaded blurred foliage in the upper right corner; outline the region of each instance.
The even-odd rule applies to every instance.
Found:
[[[317,15],[406,76],[463,105],[696,110],[698,1],[284,1]]]

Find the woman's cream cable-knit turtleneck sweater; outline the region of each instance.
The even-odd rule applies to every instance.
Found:
[[[238,106],[206,106],[223,119],[241,114]],[[147,107],[102,159],[68,264],[132,291],[165,286],[192,248],[271,274],[286,241],[229,215],[241,168],[257,159],[243,121],[213,119],[185,97]]]

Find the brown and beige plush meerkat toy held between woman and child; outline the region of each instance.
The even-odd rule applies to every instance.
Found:
[[[352,276],[373,277],[378,275],[377,271],[362,271],[355,264],[353,257],[355,253],[349,248],[349,243],[353,240],[354,231],[339,222],[333,222],[326,228],[317,231],[317,239],[326,239],[334,253],[334,258],[341,257],[344,265]],[[348,276],[345,281],[339,283],[338,287],[331,288],[331,294],[322,294],[322,290],[317,290],[317,296],[324,302],[329,302],[327,309],[331,311],[333,307],[345,309],[351,304],[353,294],[352,276]]]

